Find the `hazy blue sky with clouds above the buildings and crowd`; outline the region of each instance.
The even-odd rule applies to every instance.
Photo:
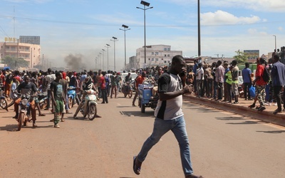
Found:
[[[146,11],[147,45],[170,45],[184,56],[196,56],[197,0],[147,2],[153,6]],[[41,52],[52,66],[65,67],[66,56],[81,54],[87,68],[93,68],[108,43],[113,68],[110,39],[115,36],[116,68],[123,68],[122,24],[130,28],[127,59],[144,46],[143,11],[137,6],[143,8],[140,0],[2,0],[0,41],[6,36],[41,36]],[[202,56],[232,57],[234,51],[249,49],[267,54],[275,48],[273,35],[277,48],[285,46],[284,0],[200,0],[200,6]]]

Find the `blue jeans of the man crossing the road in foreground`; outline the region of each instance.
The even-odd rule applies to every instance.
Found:
[[[190,145],[185,126],[186,124],[183,116],[174,120],[161,120],[155,118],[152,135],[150,135],[142,145],[142,150],[140,150],[140,153],[138,154],[138,160],[143,162],[145,157],[147,157],[147,152],[150,151],[152,146],[160,141],[162,135],[165,135],[166,132],[171,130],[179,143],[183,172],[185,175],[192,174],[193,169],[190,156]]]

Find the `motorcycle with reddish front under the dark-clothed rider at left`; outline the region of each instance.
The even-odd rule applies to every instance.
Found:
[[[19,114],[18,114],[18,131],[21,130],[22,125],[26,126],[30,118],[30,108],[31,104],[29,103],[31,96],[30,95],[21,95],[21,102],[19,103]]]

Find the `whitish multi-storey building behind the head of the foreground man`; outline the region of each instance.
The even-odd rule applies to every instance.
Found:
[[[182,51],[171,51],[171,46],[168,45],[142,46],[136,50],[136,56],[130,58],[130,63],[134,65],[133,68],[169,66],[172,58],[176,55],[182,56]]]

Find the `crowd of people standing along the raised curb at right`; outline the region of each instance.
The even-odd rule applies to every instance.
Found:
[[[265,80],[266,72],[269,78]],[[242,85],[239,85],[239,77],[242,77]],[[266,105],[278,106],[274,114],[285,110],[285,65],[278,55],[274,55],[269,63],[264,58],[257,58],[255,73],[249,68],[249,63],[245,63],[245,68],[239,71],[236,60],[232,63],[217,61],[209,65],[198,59],[188,69],[187,84],[194,85],[195,95],[199,98],[232,104],[238,104],[239,98],[243,98],[253,100],[249,108],[259,111],[265,110]],[[257,100],[259,106],[256,106]]]

